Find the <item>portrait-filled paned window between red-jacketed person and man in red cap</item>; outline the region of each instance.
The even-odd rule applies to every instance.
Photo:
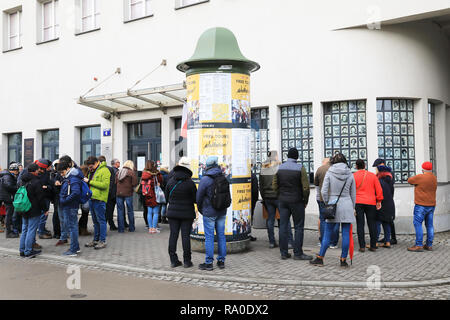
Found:
[[[392,168],[396,183],[415,175],[414,108],[406,99],[377,100],[378,156]]]

